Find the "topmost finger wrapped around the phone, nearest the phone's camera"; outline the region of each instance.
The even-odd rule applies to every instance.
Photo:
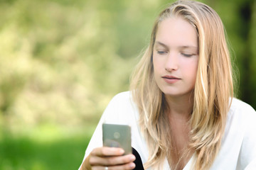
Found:
[[[98,157],[120,156],[124,154],[124,149],[119,147],[97,147],[92,150],[91,154]]]

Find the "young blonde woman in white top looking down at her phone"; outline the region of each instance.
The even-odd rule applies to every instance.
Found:
[[[134,155],[102,147],[102,123],[132,127],[142,169],[256,169],[256,113],[233,98],[223,23],[209,6],[177,1],[154,23],[151,42],[114,96],[80,169],[134,169]]]

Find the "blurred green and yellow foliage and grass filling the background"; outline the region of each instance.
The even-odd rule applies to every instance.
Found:
[[[90,139],[112,96],[129,89],[129,75],[149,42],[154,19],[170,2],[0,0],[0,160],[5,158],[0,169],[63,169],[49,168],[40,152],[58,154],[61,146],[75,147],[72,137],[81,140],[73,145]],[[256,2],[203,2],[223,19],[239,70],[238,98],[256,108]],[[45,125],[52,130],[41,129]],[[73,131],[63,139],[67,130]],[[43,139],[34,139],[44,132],[43,137],[59,139],[48,147],[41,145]],[[78,137],[84,133],[89,134],[87,140]],[[9,156],[11,146],[14,154],[19,152],[17,157]],[[82,154],[85,147],[80,148]],[[67,152],[60,152],[60,157]],[[28,159],[28,154],[36,168],[18,161],[19,156]],[[80,164],[82,155],[78,159]]]

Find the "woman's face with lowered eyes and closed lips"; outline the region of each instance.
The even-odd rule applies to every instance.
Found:
[[[196,83],[198,36],[182,18],[159,23],[153,52],[154,78],[167,96],[190,95]]]

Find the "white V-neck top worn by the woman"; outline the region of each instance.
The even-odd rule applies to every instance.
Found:
[[[148,150],[144,137],[139,130],[138,119],[139,112],[132,101],[129,91],[114,96],[102,114],[102,118],[100,118],[100,122],[85,151],[85,157],[95,147],[102,147],[102,123],[124,124],[131,126],[132,147],[139,152],[144,164],[148,158]],[[233,98],[233,103],[228,112],[225,135],[223,136],[220,152],[210,170],[256,169],[255,130],[255,110],[247,103]],[[183,170],[192,169],[193,159],[196,159],[195,154]],[[164,162],[163,169],[170,169],[167,160]]]

